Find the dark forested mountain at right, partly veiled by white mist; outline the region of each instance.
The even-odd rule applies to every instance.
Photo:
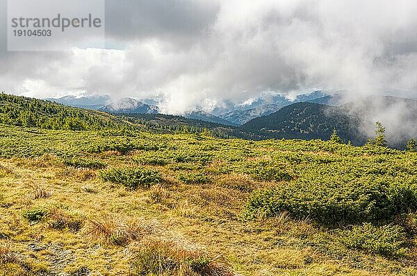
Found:
[[[335,103],[337,98],[319,98]],[[343,102],[343,101],[339,101]],[[368,96],[341,106],[294,103],[266,117],[245,123],[240,129],[269,138],[329,139],[337,130],[344,141],[361,145],[375,136],[375,122],[386,127],[389,146],[404,148],[417,137],[417,101],[392,96]]]

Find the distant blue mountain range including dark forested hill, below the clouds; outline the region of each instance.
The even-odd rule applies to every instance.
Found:
[[[95,109],[128,117],[159,114],[158,106],[133,98],[104,105],[108,102],[106,96],[67,96],[53,100],[89,109],[98,107]],[[401,148],[407,139],[417,137],[417,101],[392,96],[329,95],[316,91],[290,100],[281,95],[263,94],[245,103],[227,102],[211,113],[195,110],[181,116],[201,121],[203,125],[204,121],[218,123],[224,126],[218,128],[224,135],[245,139],[329,139],[336,130],[343,141],[361,145],[374,136],[376,121],[386,127],[390,146]],[[170,121],[173,117],[164,118],[175,124]]]

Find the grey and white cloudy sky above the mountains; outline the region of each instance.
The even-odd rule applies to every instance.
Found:
[[[416,0],[108,0],[106,49],[65,52],[6,51],[0,10],[13,94],[158,96],[183,112],[262,92],[417,91]]]

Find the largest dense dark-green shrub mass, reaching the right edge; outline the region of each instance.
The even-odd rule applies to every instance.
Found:
[[[312,218],[324,225],[384,222],[417,210],[416,184],[389,184],[386,180],[338,183],[293,182],[256,191],[247,202],[243,217],[272,217],[288,212],[294,218]]]

